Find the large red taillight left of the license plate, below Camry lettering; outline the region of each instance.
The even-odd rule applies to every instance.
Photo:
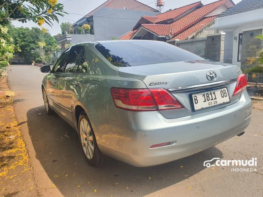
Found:
[[[111,88],[110,92],[115,106],[125,110],[157,111],[183,108],[167,90],[162,88]]]

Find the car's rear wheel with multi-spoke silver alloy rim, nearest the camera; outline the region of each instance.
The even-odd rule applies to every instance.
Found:
[[[104,161],[104,155],[98,148],[98,144],[94,135],[94,131],[91,127],[91,123],[87,117],[87,114],[84,111],[80,113],[78,122],[78,132],[80,137],[80,147],[88,164],[93,167],[101,166]]]

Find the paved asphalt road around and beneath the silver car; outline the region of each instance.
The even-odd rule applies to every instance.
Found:
[[[93,168],[82,155],[76,132],[57,115],[46,114],[41,93],[44,74],[39,67],[13,65],[11,69],[9,87],[17,92],[15,111],[39,195],[263,196],[263,111],[253,111],[252,122],[242,137],[187,158],[147,168],[106,158],[102,167]],[[214,157],[257,157],[257,173],[231,172],[227,166],[205,168],[203,162]]]

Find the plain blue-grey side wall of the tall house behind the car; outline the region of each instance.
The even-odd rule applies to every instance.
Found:
[[[105,40],[118,38],[131,31],[142,16],[156,14],[158,13],[102,7],[93,14],[95,38]]]

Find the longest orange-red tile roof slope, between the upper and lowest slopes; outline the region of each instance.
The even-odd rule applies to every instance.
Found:
[[[176,35],[186,29],[187,27],[191,26],[192,24],[196,23],[198,20],[202,19],[207,14],[213,12],[219,6],[223,5],[228,0],[219,0],[217,2],[213,2],[203,7],[194,10],[193,12],[187,14],[183,18],[176,20],[173,22],[172,25],[172,34]]]

